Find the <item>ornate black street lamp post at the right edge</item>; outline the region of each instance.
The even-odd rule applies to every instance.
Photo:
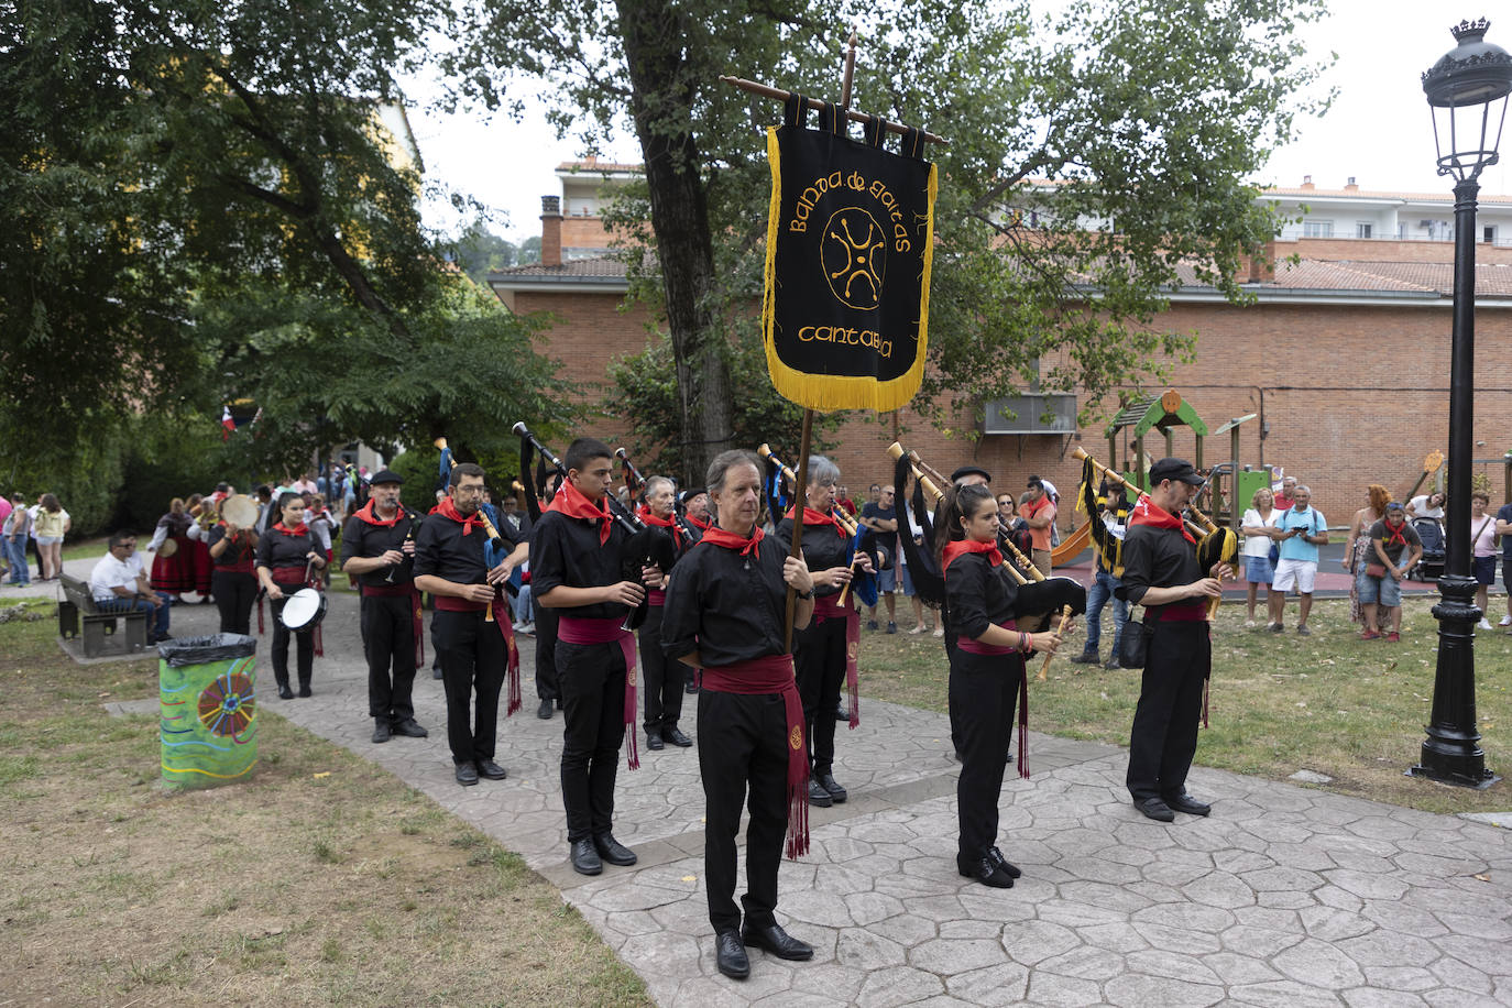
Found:
[[[1512,56],[1485,41],[1491,23],[1450,29],[1458,45],[1423,74],[1433,113],[1438,174],[1455,178],[1455,328],[1448,378],[1448,556],[1438,580],[1438,668],[1433,713],[1414,777],[1489,787],[1476,721],[1476,580],[1470,576],[1470,465],[1476,363],[1476,196],[1482,169],[1497,163]]]

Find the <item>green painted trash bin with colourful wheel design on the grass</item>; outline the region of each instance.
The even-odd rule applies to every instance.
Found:
[[[257,638],[240,633],[157,645],[163,783],[215,787],[257,763]]]

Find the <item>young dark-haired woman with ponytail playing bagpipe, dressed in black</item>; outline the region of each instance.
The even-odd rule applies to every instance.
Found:
[[[950,710],[960,733],[960,781],[956,796],[960,840],[956,867],[983,886],[1012,889],[1021,875],[998,851],[998,793],[1013,741],[1018,706],[1019,774],[1025,766],[1030,651],[1054,654],[1060,633],[1024,633],[1019,614],[1086,608],[1086,589],[1066,577],[1015,583],[998,552],[998,506],[986,485],[947,491],[936,514],[936,556],[945,571],[948,621],[956,647],[950,653]]]

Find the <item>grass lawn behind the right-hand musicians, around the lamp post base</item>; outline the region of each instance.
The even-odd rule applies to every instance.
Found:
[[[1311,638],[1244,629],[1243,606],[1225,606],[1213,630],[1211,727],[1198,763],[1282,780],[1299,769],[1326,774],[1328,790],[1427,812],[1512,810],[1512,783],[1488,790],[1403,777],[1418,762],[1433,695],[1438,623],[1432,600],[1408,600],[1402,642],[1361,641],[1349,601],[1318,601]],[[1500,598],[1491,609],[1504,611]],[[904,621],[904,629],[907,629]],[[1296,623],[1288,603],[1287,624]],[[1064,657],[1084,642],[1080,627]],[[1102,656],[1111,644],[1104,614]],[[862,692],[945,710],[942,641],[928,635],[862,632]],[[1046,682],[1030,666],[1030,728],[1128,745],[1140,673],[1104,671],[1057,657]],[[1476,638],[1476,701],[1486,766],[1512,780],[1512,636],[1498,627]],[[865,706],[865,704],[863,704]]]

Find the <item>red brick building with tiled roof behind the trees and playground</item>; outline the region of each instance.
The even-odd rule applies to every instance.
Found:
[[[603,186],[605,172],[634,171],[627,165],[562,165],[564,198],[544,201],[543,261],[490,275],[490,286],[513,311],[556,316],[546,352],[578,373],[603,375],[612,358],[644,345],[646,314],[640,308],[621,311],[623,267],[603,257],[608,237],[602,224],[575,195],[584,186]],[[1275,269],[1252,271],[1244,289],[1255,302],[1246,307],[1201,286],[1172,296],[1160,325],[1196,334],[1196,358],[1190,364],[1172,361],[1169,385],[1210,429],[1259,414],[1240,428],[1240,465],[1282,465],[1312,487],[1314,502],[1338,526],[1364,503],[1367,484],[1380,482],[1402,494],[1421,472],[1424,456],[1447,447],[1453,203],[1447,192],[1361,192],[1353,180],[1340,190],[1318,190],[1308,180],[1299,189],[1273,189],[1261,198],[1296,218],[1275,243]],[[1489,472],[1497,506],[1500,459],[1512,450],[1512,198],[1483,198],[1482,209],[1474,456],[1488,459],[1477,468]],[[1296,261],[1288,261],[1293,257]],[[1163,388],[1152,385],[1143,394]],[[975,443],[947,437],[909,410],[880,419],[856,414],[842,428],[841,449],[833,455],[857,499],[868,484],[891,481],[885,449],[895,429],[904,444],[940,470],[974,461],[995,475],[996,485],[1016,491],[1036,473],[1069,496],[1081,472],[1072,447],[1081,444],[1108,461],[1104,425],[1117,411],[1110,402],[1095,423],[1078,428],[1080,400],[1072,399],[1055,404],[1061,419],[1048,426],[1037,420],[1037,400],[1007,404],[1018,422],[1001,422],[999,411],[989,408],[987,429],[1013,432],[987,432]],[[983,431],[984,423],[962,416],[956,429]],[[597,431],[609,440],[620,434],[609,422]],[[773,440],[776,447],[777,432]],[[1188,458],[1194,453],[1190,431],[1176,429],[1175,450]],[[1146,452],[1155,458],[1164,453],[1158,435],[1146,441]],[[1226,437],[1207,438],[1207,465],[1228,458]],[[1070,524],[1069,512],[1069,505],[1061,508],[1063,526]]]

